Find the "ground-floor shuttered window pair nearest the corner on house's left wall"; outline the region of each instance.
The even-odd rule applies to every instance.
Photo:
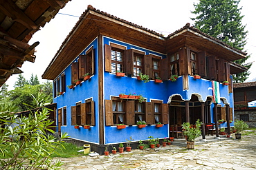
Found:
[[[77,103],[71,106],[71,125],[95,125],[94,101],[89,99],[86,103]]]

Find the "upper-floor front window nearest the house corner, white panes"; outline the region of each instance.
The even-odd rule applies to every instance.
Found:
[[[123,70],[123,51],[117,48],[111,48],[111,72],[124,72]]]

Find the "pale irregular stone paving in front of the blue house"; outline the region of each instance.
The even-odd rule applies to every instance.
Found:
[[[232,134],[232,138],[235,138]],[[169,145],[156,149],[133,149],[110,156],[60,158],[62,169],[256,169],[256,134],[241,140],[220,140],[186,149]]]

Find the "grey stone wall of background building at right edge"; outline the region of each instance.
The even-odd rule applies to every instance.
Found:
[[[249,127],[256,127],[256,108],[235,110],[235,120],[240,120],[242,114],[248,114],[249,121],[246,123]]]

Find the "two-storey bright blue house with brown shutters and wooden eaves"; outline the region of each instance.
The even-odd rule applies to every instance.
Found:
[[[148,136],[172,136],[172,128],[197,119],[203,122],[202,138],[210,123],[230,133],[232,74],[246,71],[232,61],[245,56],[189,23],[165,37],[88,6],[42,78],[53,80],[56,132],[102,153],[130,136],[134,148]],[[116,76],[120,72],[125,75]],[[138,80],[141,74],[149,82]],[[226,122],[219,126],[220,119]],[[138,121],[146,127],[138,128]]]

